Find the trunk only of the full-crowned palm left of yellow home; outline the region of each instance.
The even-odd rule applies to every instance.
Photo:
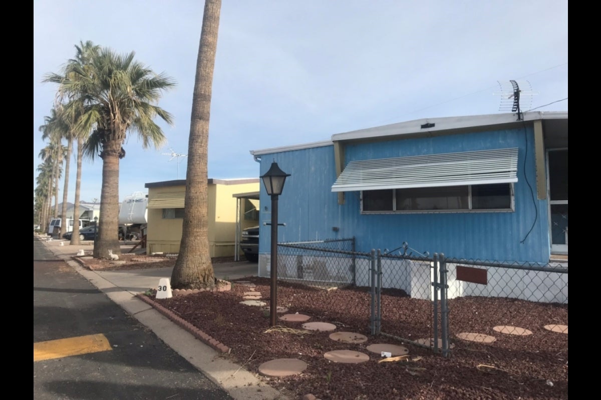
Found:
[[[117,135],[118,136],[118,135]],[[102,192],[100,193],[100,219],[94,257],[109,257],[121,254],[119,242],[119,154],[121,141],[112,140],[103,146]]]

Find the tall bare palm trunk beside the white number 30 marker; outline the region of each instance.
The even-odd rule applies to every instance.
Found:
[[[209,254],[207,149],[220,13],[221,0],[204,2],[188,140],[182,242],[171,273],[171,286],[178,289],[215,286],[215,272]]]

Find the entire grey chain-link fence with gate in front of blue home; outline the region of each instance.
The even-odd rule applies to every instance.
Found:
[[[491,344],[507,354],[567,353],[567,262],[463,260],[404,249],[357,252],[353,239],[278,243],[278,278],[360,292],[339,319],[347,312],[371,335],[444,356]],[[334,297],[320,299],[324,309]]]

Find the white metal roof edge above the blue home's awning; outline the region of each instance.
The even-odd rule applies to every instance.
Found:
[[[386,137],[403,134],[429,133],[447,131],[461,128],[486,127],[489,125],[514,124],[516,113],[498,113],[486,115],[454,116],[441,118],[422,118],[413,121],[398,122],[397,124],[382,125],[380,127],[366,128],[332,135],[332,141],[367,139],[371,137]],[[567,111],[536,111],[523,113],[524,121],[537,121],[539,119],[567,119]],[[421,128],[424,124],[435,124],[432,128]]]

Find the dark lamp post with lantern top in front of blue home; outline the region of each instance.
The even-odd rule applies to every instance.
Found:
[[[271,301],[269,305],[269,317],[271,320],[270,326],[275,326],[275,316],[278,309],[278,197],[284,189],[286,177],[290,174],[279,169],[278,164],[271,163],[269,171],[260,178],[263,179],[263,184],[267,190],[267,194],[271,197]]]

